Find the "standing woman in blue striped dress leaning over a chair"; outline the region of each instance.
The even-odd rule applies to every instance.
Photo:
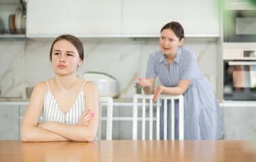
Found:
[[[184,95],[184,139],[217,140],[223,134],[219,102],[210,82],[198,69],[196,55],[180,47],[184,30],[178,22],[170,22],[161,29],[161,50],[148,59],[146,78],[139,78],[145,94],[152,94],[156,76],[163,86],[154,90],[153,101],[161,93]],[[168,104],[168,139],[171,138],[171,104]],[[175,103],[175,118],[178,104]],[[175,138],[178,137],[178,119],[175,119]],[[161,109],[161,139],[163,139],[163,109]]]

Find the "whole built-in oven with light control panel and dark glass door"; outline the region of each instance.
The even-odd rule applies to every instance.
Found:
[[[256,101],[256,49],[224,49],[223,99]]]

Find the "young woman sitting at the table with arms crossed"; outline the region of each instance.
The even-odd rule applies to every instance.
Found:
[[[83,44],[72,35],[59,36],[51,45],[55,77],[35,86],[22,121],[22,141],[95,140],[99,92],[97,84],[76,76],[83,55]]]

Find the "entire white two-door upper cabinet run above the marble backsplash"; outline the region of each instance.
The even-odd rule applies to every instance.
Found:
[[[219,36],[216,0],[30,0],[26,36],[158,37],[171,21],[186,37]]]

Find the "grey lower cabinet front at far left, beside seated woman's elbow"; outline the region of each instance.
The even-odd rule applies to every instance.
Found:
[[[0,140],[19,140],[19,105],[0,104]]]

